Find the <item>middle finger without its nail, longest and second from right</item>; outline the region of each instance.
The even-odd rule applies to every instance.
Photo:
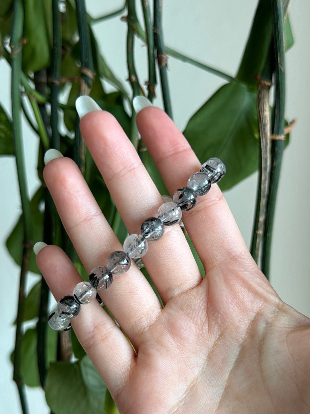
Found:
[[[129,233],[140,233],[145,219],[157,217],[163,199],[137,151],[107,112],[89,113],[80,129]],[[148,245],[142,260],[163,303],[201,282],[180,226],[166,228],[161,239]]]

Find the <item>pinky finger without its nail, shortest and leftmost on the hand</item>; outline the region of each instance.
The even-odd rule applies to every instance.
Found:
[[[57,301],[71,295],[76,284],[82,281],[71,260],[57,246],[40,250],[37,263]],[[97,301],[82,305],[71,324],[112,396],[117,395],[135,363],[130,343]]]

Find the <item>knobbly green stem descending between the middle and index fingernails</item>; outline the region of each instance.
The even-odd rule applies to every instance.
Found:
[[[138,82],[138,76],[135,68],[135,58],[134,58],[134,44],[135,44],[135,31],[133,28],[134,22],[137,22],[137,14],[135,10],[135,0],[128,0],[128,30],[127,30],[127,66],[128,66],[128,75],[129,82],[133,88],[133,98],[140,95],[140,85]],[[136,113],[133,108],[133,101],[131,100],[131,128],[130,128],[130,141],[133,143],[135,149],[138,148],[138,130],[136,125]]]

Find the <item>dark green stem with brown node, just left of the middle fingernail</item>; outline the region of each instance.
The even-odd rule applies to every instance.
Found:
[[[79,95],[89,95],[92,89],[94,79],[94,65],[92,60],[92,47],[90,43],[90,30],[87,23],[87,15],[85,11],[84,0],[75,0],[76,15],[78,18],[78,33],[80,36],[80,61],[81,61],[81,77]],[[80,133],[80,122],[76,117],[75,140],[73,147],[73,159],[84,173],[85,169],[85,142]]]

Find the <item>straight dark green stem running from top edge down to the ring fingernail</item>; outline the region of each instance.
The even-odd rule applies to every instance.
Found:
[[[50,76],[51,84],[51,128],[52,142],[54,149],[60,150],[60,138],[58,132],[58,95],[60,90],[60,68],[62,63],[62,32],[59,12],[59,1],[52,0],[53,15],[53,50],[52,50],[52,69]]]

